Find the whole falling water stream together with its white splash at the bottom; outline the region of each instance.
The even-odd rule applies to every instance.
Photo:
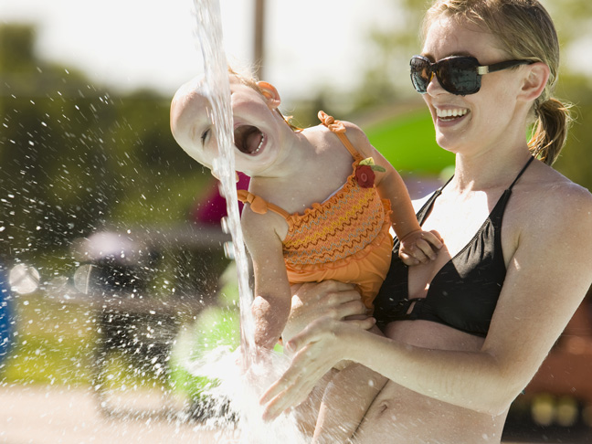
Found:
[[[206,94],[212,106],[212,122],[218,141],[218,155],[213,173],[222,183],[227,199],[227,226],[233,238],[237,264],[240,309],[240,337],[243,365],[237,365],[237,354],[216,352],[185,365],[194,375],[217,379],[219,385],[208,390],[218,417],[212,418],[214,427],[227,427],[224,421],[238,421],[241,442],[275,443],[278,441],[301,444],[307,442],[297,427],[293,415],[282,415],[272,423],[263,423],[263,408],[259,397],[265,388],[277,380],[289,364],[286,356],[270,352],[267,365],[259,365],[250,358],[254,336],[250,306],[253,296],[248,284],[248,261],[240,228],[235,179],[234,131],[230,105],[227,59],[223,49],[221,14],[218,0],[194,0],[196,9],[196,40],[205,66]],[[270,364],[271,363],[271,364]],[[244,373],[241,368],[248,368]],[[227,401],[231,402],[228,404]],[[220,424],[220,419],[223,421]]]

